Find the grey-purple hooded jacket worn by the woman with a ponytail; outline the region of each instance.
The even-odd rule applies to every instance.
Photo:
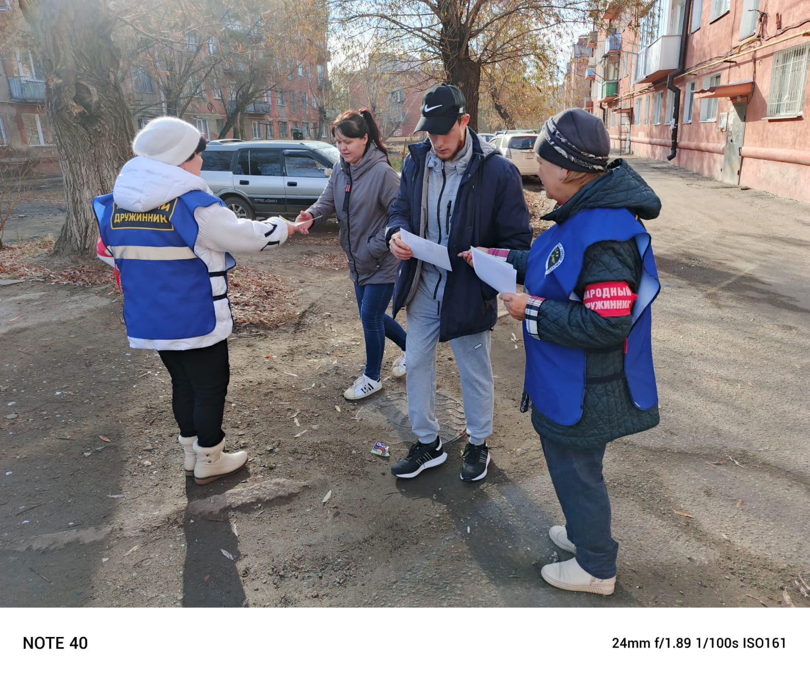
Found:
[[[350,190],[347,190],[350,186]],[[393,283],[399,261],[386,247],[388,210],[399,192],[399,174],[373,143],[357,167],[342,158],[335,163],[318,202],[307,208],[313,226],[333,213],[340,224],[340,246],[349,275],[358,285]]]

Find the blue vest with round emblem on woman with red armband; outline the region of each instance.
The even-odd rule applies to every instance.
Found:
[[[598,241],[629,241],[631,238],[642,255],[643,273],[632,309],[633,329],[627,338],[625,376],[633,404],[648,410],[658,403],[650,342],[650,304],[661,286],[650,234],[639,220],[624,208],[599,208],[582,211],[563,224],[555,224],[531,246],[524,289],[530,295],[549,300],[582,301],[573,293],[573,288],[588,247]],[[586,351],[536,340],[527,333],[525,324],[523,345],[526,347],[525,389],[532,404],[560,425],[575,425],[582,418],[585,398]]]

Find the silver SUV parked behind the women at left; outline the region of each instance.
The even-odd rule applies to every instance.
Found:
[[[297,216],[321,195],[338,150],[325,142],[212,141],[200,176],[237,216]]]

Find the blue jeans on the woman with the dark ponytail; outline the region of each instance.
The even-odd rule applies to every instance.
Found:
[[[386,337],[405,351],[405,331],[398,322],[386,314],[393,294],[393,283],[355,284],[357,309],[360,310],[365,338],[364,374],[373,380],[380,378]]]

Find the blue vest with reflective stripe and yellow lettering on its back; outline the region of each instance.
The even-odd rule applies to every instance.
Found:
[[[148,212],[131,212],[113,194],[93,200],[101,241],[121,272],[126,334],[141,340],[185,340],[216,325],[211,276],[236,266],[226,253],[225,271],[208,271],[194,254],[197,207],[224,203],[205,191],[190,191]]]

